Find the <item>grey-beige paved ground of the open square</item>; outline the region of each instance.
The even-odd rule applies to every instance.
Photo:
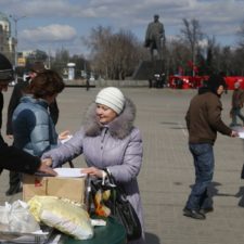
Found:
[[[143,166],[139,183],[144,208],[149,244],[242,244],[244,242],[244,181],[241,139],[219,134],[215,145],[216,169],[213,183],[214,213],[206,220],[182,215],[182,208],[194,181],[192,157],[188,151],[184,114],[195,90],[121,88],[138,108],[136,125],[144,143]],[[88,104],[99,88],[66,88],[57,98],[57,130],[75,132]],[[4,94],[5,107],[12,88]],[[223,120],[230,124],[231,91],[223,94]],[[4,125],[4,124],[3,124]],[[2,128],[4,136],[4,127]],[[9,140],[10,142],[10,140]],[[17,163],[17,162],[16,162]],[[79,156],[77,167],[85,163]],[[0,204],[21,198],[7,197],[8,171],[0,177]]]

